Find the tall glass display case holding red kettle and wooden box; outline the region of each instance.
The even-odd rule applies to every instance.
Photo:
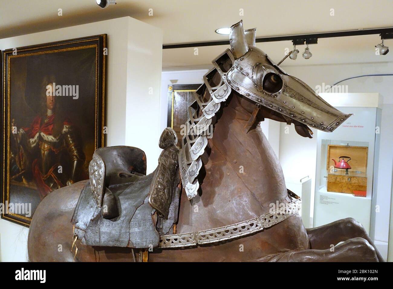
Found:
[[[379,155],[376,127],[380,126],[381,110],[378,101],[362,103],[356,94],[352,99],[347,96],[346,101],[353,106],[335,107],[354,115],[331,133],[317,133],[313,226],[353,217],[370,234]]]

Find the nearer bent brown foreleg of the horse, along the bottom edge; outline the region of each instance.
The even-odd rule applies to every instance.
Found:
[[[378,262],[376,251],[366,239],[357,237],[326,250],[290,251],[275,256],[277,262]]]

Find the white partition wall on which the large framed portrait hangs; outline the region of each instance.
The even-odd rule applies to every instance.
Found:
[[[153,171],[160,154],[160,29],[122,17],[0,39],[0,50],[97,34],[108,35],[107,145],[140,147]],[[25,261],[27,234],[27,228],[0,219],[0,261]]]

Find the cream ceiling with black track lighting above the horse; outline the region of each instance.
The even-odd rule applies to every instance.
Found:
[[[57,15],[59,8],[63,16]],[[149,16],[150,8],[153,16]],[[215,29],[241,19],[245,28],[257,27],[257,37],[393,27],[392,11],[391,0],[118,0],[105,9],[95,0],[13,0],[2,1],[0,38],[130,16],[161,28],[163,43],[174,44],[227,40],[228,35],[219,35]],[[296,61],[287,59],[282,65],[392,62],[393,52],[375,55],[378,43],[379,35],[319,39],[318,44],[310,45],[313,57],[306,60],[299,55]],[[393,39],[385,45],[393,46]],[[285,48],[292,49],[290,41],[257,46],[275,61],[283,58]],[[226,48],[200,47],[198,55],[194,55],[194,48],[163,50],[163,70],[209,68],[211,60]],[[298,49],[302,52],[304,46]]]

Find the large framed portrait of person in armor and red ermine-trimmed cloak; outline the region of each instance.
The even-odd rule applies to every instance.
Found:
[[[88,179],[105,145],[107,35],[2,52],[2,218],[29,226],[42,199]]]

